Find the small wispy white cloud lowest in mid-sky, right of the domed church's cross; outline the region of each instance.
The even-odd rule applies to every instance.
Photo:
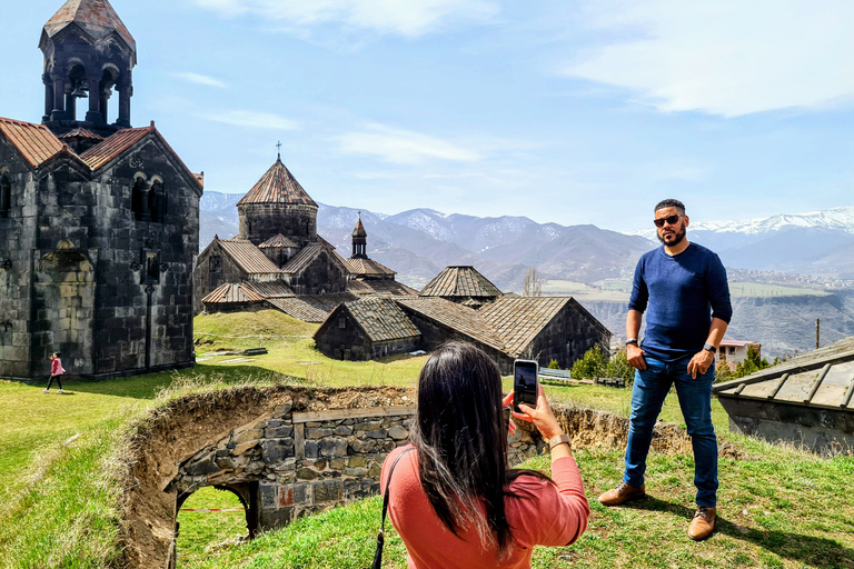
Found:
[[[419,132],[393,129],[370,123],[359,132],[337,137],[341,152],[347,154],[373,154],[397,164],[417,164],[428,159],[455,162],[474,162],[480,154]]]

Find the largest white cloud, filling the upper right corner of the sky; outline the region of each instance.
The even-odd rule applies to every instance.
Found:
[[[589,0],[585,14],[622,39],[564,73],[628,88],[663,111],[736,117],[854,99],[850,0]]]

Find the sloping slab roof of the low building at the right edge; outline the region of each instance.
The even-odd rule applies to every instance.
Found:
[[[854,411],[854,337],[717,383],[713,392],[722,398]]]

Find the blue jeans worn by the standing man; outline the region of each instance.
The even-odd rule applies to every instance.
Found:
[[[694,486],[697,506],[714,508],[717,503],[717,438],[712,425],[712,383],[715,365],[697,379],[687,372],[691,357],[665,363],[644,356],[646,370],[635,370],[632,390],[632,417],[626,445],[626,472],[623,480],[635,488],[644,485],[646,456],[653,441],[653,428],[662,411],[664,398],[676,385],[682,416],[694,447]]]

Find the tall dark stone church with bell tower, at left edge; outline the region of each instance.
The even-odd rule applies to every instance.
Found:
[[[107,0],[68,0],[39,47],[41,124],[0,118],[0,377],[54,351],[95,378],[192,366],[202,177],[131,128],[136,42]]]

